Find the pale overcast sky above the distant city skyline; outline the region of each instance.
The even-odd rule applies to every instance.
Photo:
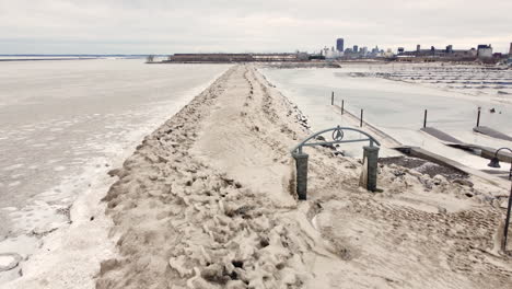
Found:
[[[0,54],[454,49],[512,42],[511,0],[0,0]]]

